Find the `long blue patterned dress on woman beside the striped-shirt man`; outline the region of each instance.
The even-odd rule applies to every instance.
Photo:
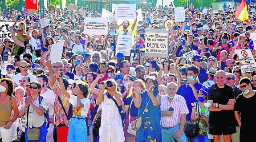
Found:
[[[155,91],[154,96],[157,95],[158,93]],[[142,115],[147,102],[150,100],[146,91],[141,94],[141,97],[142,102],[138,109],[138,117]],[[145,111],[142,116],[142,125],[136,134],[137,142],[162,142],[160,105],[154,106],[150,100],[147,110],[148,112]]]

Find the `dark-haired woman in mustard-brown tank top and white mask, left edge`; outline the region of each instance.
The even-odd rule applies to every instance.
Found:
[[[12,142],[12,130],[14,129],[12,123],[19,116],[17,100],[12,95],[13,89],[14,85],[11,79],[0,80],[0,137],[3,142]]]

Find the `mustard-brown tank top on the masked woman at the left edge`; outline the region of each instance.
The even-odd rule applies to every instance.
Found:
[[[4,104],[0,103],[0,127],[12,118],[12,97]]]

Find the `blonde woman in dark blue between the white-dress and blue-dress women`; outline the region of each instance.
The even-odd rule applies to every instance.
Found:
[[[125,124],[124,136],[125,136],[126,142],[135,142],[135,139],[136,139],[136,136],[127,132],[129,123],[138,118],[138,108],[136,108],[134,105],[134,102],[136,100],[134,87],[133,87],[134,85],[136,85],[142,91],[146,89],[145,84],[142,80],[138,79],[134,81],[129,90],[130,93],[128,94],[128,96],[124,101],[124,104],[125,104],[124,110],[127,112],[127,118],[124,121],[124,124]]]

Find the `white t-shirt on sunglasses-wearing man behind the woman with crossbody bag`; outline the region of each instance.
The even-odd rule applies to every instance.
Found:
[[[55,101],[55,95],[53,93],[53,91],[47,89],[47,91],[45,93],[42,93],[42,96],[45,96],[47,99],[47,105],[49,108],[49,114],[50,114],[50,118],[53,118],[53,104]]]

